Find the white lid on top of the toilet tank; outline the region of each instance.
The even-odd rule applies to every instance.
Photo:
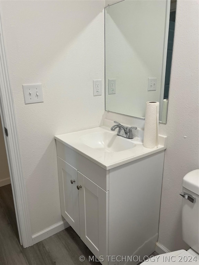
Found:
[[[183,187],[199,195],[199,169],[187,173],[183,177]]]

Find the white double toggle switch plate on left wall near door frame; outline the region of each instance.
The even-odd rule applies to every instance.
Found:
[[[41,84],[22,85],[22,87],[25,104],[44,102]]]

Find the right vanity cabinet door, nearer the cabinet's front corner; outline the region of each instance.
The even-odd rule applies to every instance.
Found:
[[[109,191],[104,191],[79,171],[80,238],[106,264],[108,255]],[[102,258],[104,257],[104,262]]]

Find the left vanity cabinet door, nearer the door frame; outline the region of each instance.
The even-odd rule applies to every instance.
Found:
[[[57,157],[62,216],[80,236],[77,170]]]

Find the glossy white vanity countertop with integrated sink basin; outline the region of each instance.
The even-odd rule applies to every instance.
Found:
[[[105,119],[104,126],[56,135],[57,148],[60,149],[58,156],[72,149],[105,170],[109,170],[166,148],[166,136],[159,135],[158,147],[145,148],[143,146],[144,130],[138,128],[133,133],[133,139],[126,139],[116,135],[116,131],[110,130],[113,125],[113,121]],[[76,163],[81,156],[74,152],[70,159]],[[82,163],[83,161],[81,160]]]

